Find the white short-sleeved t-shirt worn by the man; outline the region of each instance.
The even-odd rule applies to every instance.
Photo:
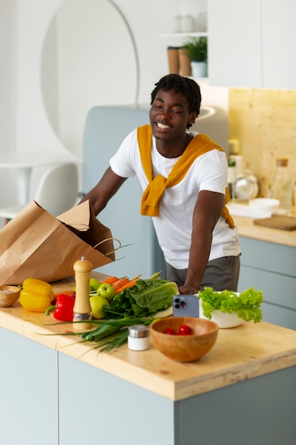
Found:
[[[160,174],[168,178],[177,159],[179,158],[168,159],[158,153],[153,136],[153,176]],[[143,171],[136,129],[126,136],[119,150],[110,159],[110,166],[114,173],[123,178],[137,175],[143,191],[146,189],[148,179]],[[188,267],[192,215],[199,191],[214,191],[225,195],[227,175],[226,154],[214,149],[197,157],[180,183],[165,188],[160,200],[159,216],[152,219],[165,261],[172,267]],[[225,219],[220,217],[213,231],[209,260],[240,253],[236,227],[231,229]]]

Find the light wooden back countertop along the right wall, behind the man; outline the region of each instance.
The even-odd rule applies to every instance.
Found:
[[[239,236],[296,247],[296,230],[279,230],[253,224],[252,218],[233,216]]]

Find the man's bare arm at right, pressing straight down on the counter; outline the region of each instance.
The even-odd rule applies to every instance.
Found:
[[[192,218],[192,239],[189,265],[181,294],[196,294],[202,284],[202,277],[209,261],[212,246],[212,232],[221,211],[225,197],[222,193],[201,191],[194,207]]]

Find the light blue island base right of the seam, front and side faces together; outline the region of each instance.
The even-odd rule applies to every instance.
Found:
[[[60,445],[295,444],[295,367],[174,402],[65,355],[59,361]]]

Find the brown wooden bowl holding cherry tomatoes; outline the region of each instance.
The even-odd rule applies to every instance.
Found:
[[[175,332],[181,325],[190,326],[191,336],[169,335],[168,328]],[[178,362],[193,362],[206,355],[214,346],[219,327],[210,320],[194,317],[172,317],[154,321],[150,325],[150,336],[160,353]]]

